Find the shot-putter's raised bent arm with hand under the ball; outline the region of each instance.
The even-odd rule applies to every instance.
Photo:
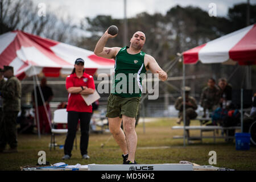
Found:
[[[119,47],[105,47],[106,42],[108,42],[109,38],[114,38],[116,35],[110,35],[108,34],[108,30],[101,36],[100,40],[98,40],[95,48],[94,48],[94,54],[100,57],[105,57],[107,59],[115,59],[115,56],[117,55],[118,51],[121,49]]]

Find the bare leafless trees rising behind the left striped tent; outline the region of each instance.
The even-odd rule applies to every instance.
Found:
[[[57,18],[56,12],[47,9],[46,16],[38,15],[38,7],[31,0],[1,0],[1,26],[7,28],[0,34],[10,30],[22,30],[31,34],[43,36],[59,42],[71,42],[75,28],[70,16],[67,19]]]

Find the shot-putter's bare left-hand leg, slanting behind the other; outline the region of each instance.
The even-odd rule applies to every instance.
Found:
[[[121,129],[122,118],[116,117],[116,118],[108,118],[108,119],[109,119],[109,130],[112,133],[115,139],[115,142],[117,142],[123,154],[128,154],[125,134]]]

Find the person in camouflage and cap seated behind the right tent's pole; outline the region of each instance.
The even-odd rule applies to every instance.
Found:
[[[190,90],[191,88],[185,86],[185,126],[189,126],[190,120],[197,117],[197,113],[195,111],[197,109],[196,100],[192,96],[189,96]],[[180,122],[183,121],[183,97],[177,98],[174,107],[176,110],[179,110],[179,120],[177,121],[177,123],[180,124]],[[189,137],[189,130],[186,131]]]

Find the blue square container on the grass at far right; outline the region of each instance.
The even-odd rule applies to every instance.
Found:
[[[236,150],[250,149],[250,133],[236,133]]]

